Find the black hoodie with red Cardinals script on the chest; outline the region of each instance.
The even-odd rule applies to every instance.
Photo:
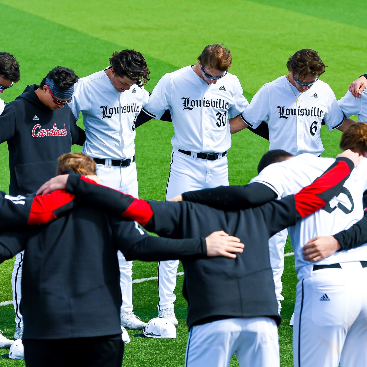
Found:
[[[51,110],[35,93],[38,88],[27,86],[0,116],[0,142],[8,142],[10,195],[37,191],[55,176],[58,157],[85,140],[69,106]]]

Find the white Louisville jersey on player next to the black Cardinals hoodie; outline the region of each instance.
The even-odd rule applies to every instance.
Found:
[[[111,159],[134,156],[134,121],[148,99],[149,92],[137,85],[118,92],[105,70],[80,78],[69,106],[76,119],[80,112],[83,116],[83,153]]]

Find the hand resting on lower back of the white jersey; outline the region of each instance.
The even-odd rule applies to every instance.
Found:
[[[333,236],[316,236],[303,247],[303,258],[315,262],[333,255],[341,246]]]

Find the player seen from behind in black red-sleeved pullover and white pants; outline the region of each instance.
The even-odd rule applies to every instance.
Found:
[[[357,159],[360,161],[361,157]],[[350,170],[345,163],[338,160],[334,168],[330,167],[311,187],[295,196],[237,211],[189,202],[147,202],[85,180],[74,187],[68,184],[66,189],[79,200],[135,218],[160,236],[193,238],[222,228],[248,244],[256,244],[246,246],[236,259],[182,258],[189,326],[185,366],[228,366],[235,354],[240,366],[274,367],[279,366],[276,326],[281,317],[269,262],[269,237],[323,207],[338,193]],[[336,190],[332,188],[335,180],[339,182]],[[65,184],[59,188],[65,188]]]

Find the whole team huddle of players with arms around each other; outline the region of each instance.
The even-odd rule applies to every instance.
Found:
[[[114,52],[109,63],[82,78],[57,66],[14,101],[0,99],[10,167],[0,262],[15,256],[16,322],[16,341],[0,334],[0,347],[26,366],[65,366],[77,342],[76,365],[120,367],[125,328],[175,338],[181,260],[185,366],[228,366],[233,355],[240,366],[280,366],[289,235],[299,280],[294,366],[366,366],[367,75],[337,101],[319,79],[319,54],[302,49],[248,103],[223,44],[152,93],[140,52]],[[14,56],[0,52],[0,92],[19,79]],[[167,201],[138,199],[134,140],[151,119],[174,127]],[[336,159],[320,157],[322,125],[342,131]],[[229,186],[231,134],[244,128],[269,140],[269,152],[250,183]],[[81,153],[70,153],[73,144]],[[135,259],[158,261],[148,325],[133,312]]]

